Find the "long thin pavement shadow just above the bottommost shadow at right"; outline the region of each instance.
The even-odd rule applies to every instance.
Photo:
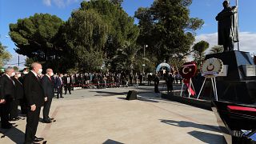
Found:
[[[186,121],[174,121],[174,120],[166,120],[166,119],[159,119],[159,120],[171,126],[194,127],[202,130],[209,130],[209,131],[222,133],[222,131],[218,128],[218,126],[202,125],[202,124],[198,124],[194,122],[186,122]]]

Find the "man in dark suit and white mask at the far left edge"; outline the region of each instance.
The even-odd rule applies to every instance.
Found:
[[[1,124],[3,129],[10,129],[9,114],[10,102],[14,100],[15,85],[11,79],[15,75],[12,67],[7,67],[4,75],[0,78],[0,110],[1,110]]]

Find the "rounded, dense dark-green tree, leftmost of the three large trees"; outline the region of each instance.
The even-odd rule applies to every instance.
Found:
[[[18,47],[15,51],[38,62],[53,62],[59,55],[54,38],[62,24],[62,19],[50,14],[34,14],[11,23],[10,38]]]

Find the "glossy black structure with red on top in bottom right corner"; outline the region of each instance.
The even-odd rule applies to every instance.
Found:
[[[232,111],[228,106],[239,106],[243,110]],[[212,110],[216,115],[219,128],[227,143],[256,143],[256,106],[234,104],[231,102],[213,101]]]

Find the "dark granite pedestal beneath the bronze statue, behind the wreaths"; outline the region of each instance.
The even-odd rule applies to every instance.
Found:
[[[228,51],[218,54],[208,54],[206,59],[219,58],[228,65],[227,75],[217,77],[218,100],[256,105],[256,76],[246,77],[242,66],[254,65],[248,52]],[[206,82],[202,96],[214,98],[211,83]]]

